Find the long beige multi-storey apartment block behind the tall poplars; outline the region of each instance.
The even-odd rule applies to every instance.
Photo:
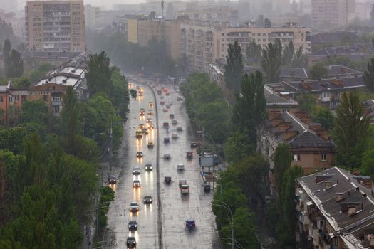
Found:
[[[184,21],[180,25],[180,54],[187,58],[189,70],[208,72],[209,65],[227,56],[229,44],[238,41],[245,58],[246,48],[255,41],[265,48],[279,38],[283,46],[293,41],[295,48],[311,53],[311,30],[297,23],[281,27],[231,27],[229,23]]]

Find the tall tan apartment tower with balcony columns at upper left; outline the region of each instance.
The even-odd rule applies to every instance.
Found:
[[[85,51],[83,0],[27,1],[26,44],[33,51]]]

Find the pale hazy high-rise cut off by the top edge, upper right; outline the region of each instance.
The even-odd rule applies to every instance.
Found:
[[[313,28],[345,26],[355,15],[355,0],[311,0]]]

